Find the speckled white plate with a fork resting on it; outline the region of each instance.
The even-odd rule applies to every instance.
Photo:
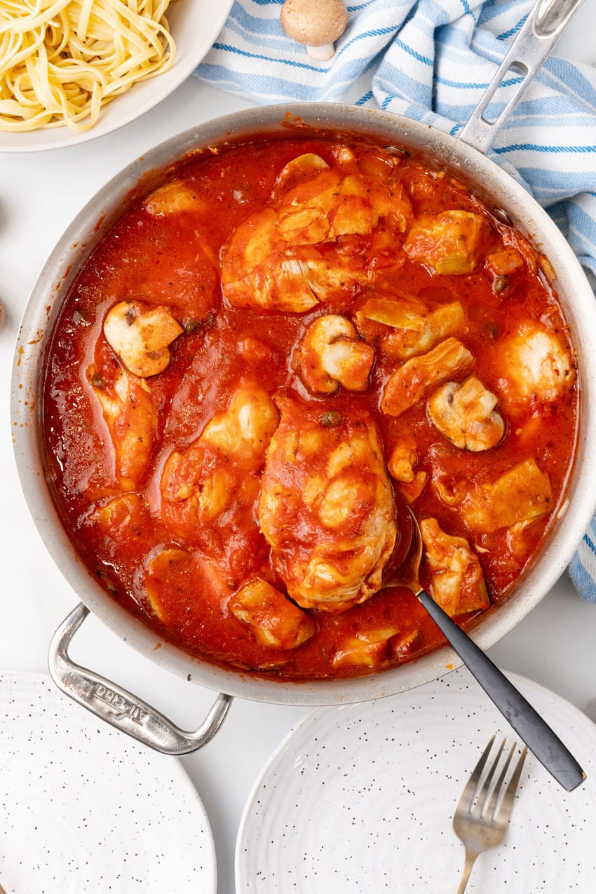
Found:
[[[514,674],[587,773],[567,794],[528,755],[507,837],[466,894],[596,890],[596,726]],[[264,768],[240,823],[238,894],[454,894],[451,828],[493,732],[513,731],[466,670],[376,702],[318,708]]]

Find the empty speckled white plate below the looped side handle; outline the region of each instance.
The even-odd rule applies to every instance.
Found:
[[[214,894],[205,809],[176,758],[49,677],[0,673],[0,882],[7,894]]]

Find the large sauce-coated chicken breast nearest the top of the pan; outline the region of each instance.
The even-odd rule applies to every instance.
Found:
[[[322,162],[306,154],[286,164],[273,204],[232,235],[222,256],[222,291],[235,307],[300,313],[365,287],[380,256],[392,263],[395,237],[411,217],[405,194],[387,177],[361,173],[353,158],[333,168]],[[352,237],[366,237],[365,252]]]

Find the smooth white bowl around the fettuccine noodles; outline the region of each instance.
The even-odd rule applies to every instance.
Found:
[[[0,131],[0,152],[38,152],[88,142],[103,137],[145,114],[169,96],[197,68],[228,18],[233,0],[172,0],[166,18],[176,42],[172,68],[149,80],[141,80],[102,109],[97,124],[78,133],[68,127],[39,128],[13,133]]]

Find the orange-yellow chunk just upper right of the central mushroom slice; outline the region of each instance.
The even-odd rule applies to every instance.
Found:
[[[396,332],[383,334],[381,344],[386,354],[400,360],[430,350],[447,335],[457,333],[466,322],[464,308],[459,301],[443,304],[428,313],[422,303],[399,298],[368,299],[357,311],[356,318],[358,329],[364,335],[365,320],[395,329]]]

